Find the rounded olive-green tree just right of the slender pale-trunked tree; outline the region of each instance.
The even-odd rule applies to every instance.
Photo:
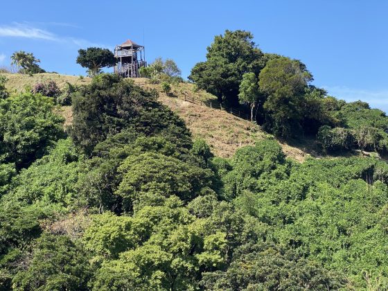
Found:
[[[265,125],[277,136],[288,138],[300,127],[301,102],[312,80],[306,65],[290,58],[274,58],[259,75],[259,86],[268,95]]]

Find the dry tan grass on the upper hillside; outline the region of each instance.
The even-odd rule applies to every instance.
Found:
[[[66,82],[84,85],[91,80],[90,78],[80,79],[78,76],[64,76],[55,73],[42,73],[34,76],[5,75],[8,78],[6,86],[12,92],[23,91],[26,85],[32,86],[42,80],[54,80],[59,87],[62,87]],[[211,145],[215,155],[230,157],[240,146],[254,144],[255,141],[266,136],[261,127],[256,124],[237,118],[227,112],[222,112],[219,109],[211,109],[205,105],[195,105],[182,100],[181,98],[185,94],[189,98],[195,96],[208,103],[210,100],[214,103],[217,102],[211,94],[196,91],[192,84],[173,85],[173,97],[171,97],[161,92],[160,85],[151,85],[147,82],[147,79],[135,79],[134,81],[141,86],[157,89],[159,100],[186,121],[186,125],[190,128],[194,138],[205,139]],[[66,125],[69,125],[72,119],[71,107],[62,107],[61,113],[66,118]],[[281,143],[281,145],[285,154],[297,161],[303,161],[307,153],[318,156],[315,145],[311,141],[299,142],[296,145],[285,143]]]

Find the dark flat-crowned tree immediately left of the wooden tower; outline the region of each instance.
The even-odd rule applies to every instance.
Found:
[[[113,67],[116,64],[116,58],[107,48],[91,47],[78,51],[77,64],[87,68],[89,76],[96,76],[103,67]]]

